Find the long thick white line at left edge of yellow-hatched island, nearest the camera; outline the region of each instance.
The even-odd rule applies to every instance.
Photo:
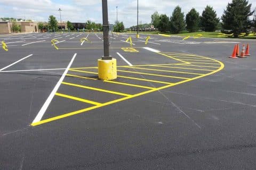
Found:
[[[61,82],[64,80],[64,78],[65,78],[66,74],[68,73],[68,70],[69,70],[71,64],[73,63],[73,61],[75,60],[75,58],[76,58],[76,53],[74,54],[73,58],[71,59],[70,63],[68,64],[66,70],[63,72],[60,80],[58,81],[58,83],[56,84],[54,89],[52,90],[52,92],[49,95],[49,97],[46,99],[44,105],[42,106],[42,108],[40,109],[40,111],[38,112],[38,114],[36,115],[36,117],[35,117],[35,119],[34,119],[34,121],[32,123],[36,123],[36,122],[41,121],[42,117],[44,116],[44,113],[45,113],[46,109],[50,105],[50,103],[51,103],[55,93],[59,89]]]

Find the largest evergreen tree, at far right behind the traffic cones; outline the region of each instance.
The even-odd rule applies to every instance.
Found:
[[[247,32],[251,24],[249,16],[253,14],[251,6],[246,0],[233,0],[228,3],[221,17],[223,29],[231,30],[234,37],[238,37],[241,32]]]

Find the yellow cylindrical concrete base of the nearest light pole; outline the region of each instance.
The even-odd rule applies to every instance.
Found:
[[[100,80],[114,80],[117,78],[116,58],[98,60],[98,77]]]

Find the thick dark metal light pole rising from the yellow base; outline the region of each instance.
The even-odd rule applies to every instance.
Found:
[[[102,18],[103,18],[103,46],[104,46],[104,56],[102,60],[112,60],[109,56],[109,39],[108,39],[108,2],[107,0],[102,0]]]

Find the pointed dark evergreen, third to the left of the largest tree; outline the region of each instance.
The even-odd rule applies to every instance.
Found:
[[[170,17],[170,30],[172,33],[179,33],[185,29],[185,26],[184,13],[181,12],[181,7],[176,6]]]

